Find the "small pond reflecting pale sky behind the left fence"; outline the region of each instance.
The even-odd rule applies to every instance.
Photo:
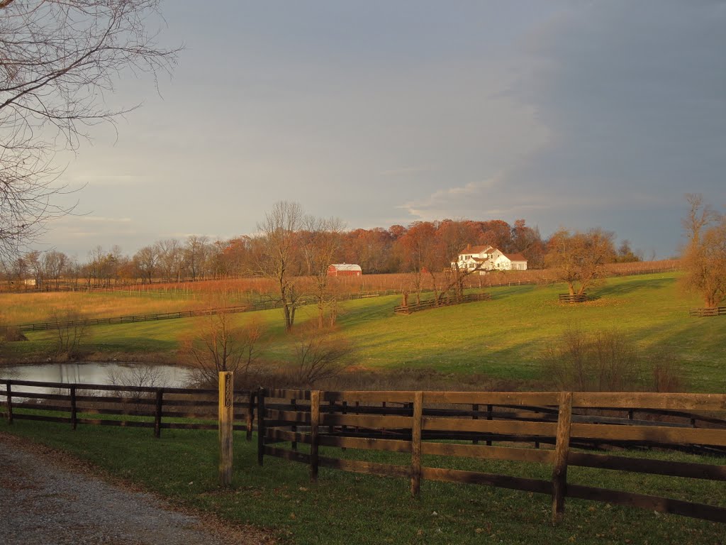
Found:
[[[147,363],[41,363],[0,367],[0,379],[63,382],[65,384],[122,384],[183,388],[194,378],[192,368]],[[27,389],[27,387],[23,387]],[[50,389],[41,389],[41,391]],[[30,391],[30,390],[28,390]]]

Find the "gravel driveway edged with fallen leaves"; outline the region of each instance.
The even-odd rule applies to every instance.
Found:
[[[71,462],[73,467],[71,467]],[[0,433],[4,545],[272,544],[254,528],[173,509],[149,493],[102,480],[87,464]]]

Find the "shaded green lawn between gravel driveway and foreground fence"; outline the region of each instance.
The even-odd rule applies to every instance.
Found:
[[[216,432],[164,430],[155,440],[148,429],[81,426],[73,432],[68,425],[29,421],[15,421],[12,426],[3,421],[0,430],[69,451],[181,506],[270,528],[281,544],[722,545],[726,541],[726,525],[592,501],[568,500],[565,520],[553,528],[548,496],[479,485],[424,481],[420,498],[413,499],[407,480],[325,468],[319,482],[312,484],[302,464],[266,457],[264,467],[258,467],[256,441],[248,443],[242,434],[234,443],[233,486],[223,491],[217,486]],[[341,452],[335,449],[331,455]],[[352,449],[343,456],[408,461],[406,455]],[[681,454],[659,456],[721,463]],[[543,479],[551,475],[551,468],[540,464],[427,457],[424,463]],[[570,468],[568,478],[726,506],[723,483],[577,467]]]

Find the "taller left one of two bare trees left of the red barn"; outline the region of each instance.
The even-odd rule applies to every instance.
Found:
[[[274,280],[277,300],[282,304],[285,331],[292,331],[295,310],[300,304],[297,281],[301,273],[298,231],[303,225],[303,209],[298,203],[280,201],[257,225],[254,239],[254,273]]]

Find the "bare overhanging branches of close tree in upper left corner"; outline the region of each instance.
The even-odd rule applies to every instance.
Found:
[[[148,31],[160,0],[0,0],[0,254],[11,255],[73,207],[59,203],[54,152],[114,123],[105,94],[126,70],[170,70],[178,49]]]

